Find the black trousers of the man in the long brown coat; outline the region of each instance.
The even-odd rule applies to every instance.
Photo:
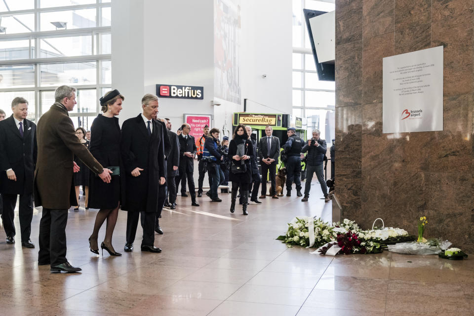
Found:
[[[38,262],[51,267],[68,262],[66,259],[67,209],[44,208],[40,220],[40,251]]]

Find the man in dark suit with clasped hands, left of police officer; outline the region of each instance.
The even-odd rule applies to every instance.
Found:
[[[275,192],[275,175],[276,164],[280,155],[280,140],[278,137],[272,136],[272,133],[272,126],[266,126],[265,134],[267,136],[260,138],[258,142],[257,153],[261,161],[260,165],[262,166],[262,195],[260,198],[265,198],[267,195],[267,172],[270,173],[270,181],[272,183],[270,195],[273,198],[278,198]]]

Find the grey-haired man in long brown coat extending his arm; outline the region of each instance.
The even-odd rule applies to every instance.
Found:
[[[37,126],[38,160],[35,169],[35,206],[42,206],[39,265],[51,265],[51,272],[78,272],[66,259],[68,209],[77,205],[73,172],[84,164],[109,183],[112,173],[102,167],[75,134],[69,111],[74,109],[76,88],[62,85],[54,92],[56,102],[44,113]],[[74,170],[74,171],[73,171]]]

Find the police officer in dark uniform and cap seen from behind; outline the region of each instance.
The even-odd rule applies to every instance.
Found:
[[[288,140],[283,145],[283,150],[288,155],[286,161],[286,196],[291,197],[291,183],[294,181],[296,185],[296,195],[298,197],[303,196],[301,194],[301,149],[303,148],[304,142],[296,136],[296,129],[290,127],[286,130]]]

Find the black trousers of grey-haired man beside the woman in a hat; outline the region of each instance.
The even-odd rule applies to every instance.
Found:
[[[133,243],[137,234],[138,219],[143,228],[142,246],[153,246],[155,243],[155,222],[157,212],[127,212],[127,242]]]

